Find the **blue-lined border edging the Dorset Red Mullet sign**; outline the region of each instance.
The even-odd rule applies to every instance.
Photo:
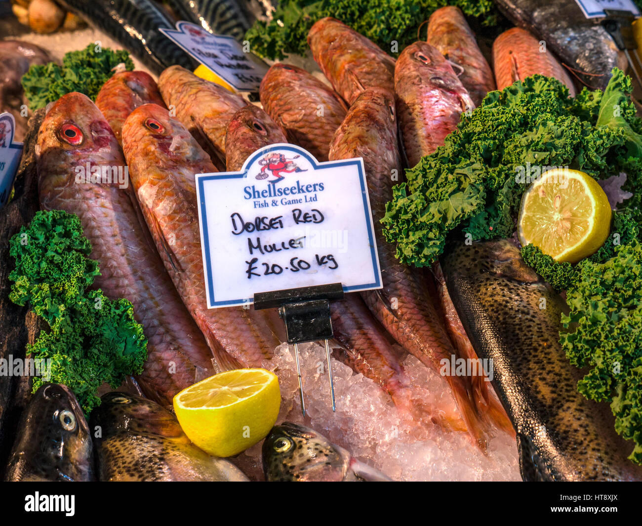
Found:
[[[203,233],[203,246],[202,250],[204,253],[205,259],[205,283],[207,290],[207,308],[214,307],[225,307],[230,305],[238,304],[251,304],[254,303],[253,298],[241,298],[241,299],[230,299],[227,301],[216,301],[214,298],[214,269],[212,268],[212,260],[209,253],[209,232],[207,229],[207,203],[205,202],[204,194],[205,188],[204,184],[209,180],[216,179],[247,179],[249,167],[252,166],[254,161],[262,157],[266,153],[270,153],[273,150],[286,150],[289,152],[294,152],[299,155],[302,155],[316,170],[324,170],[324,168],[336,168],[338,166],[356,166],[359,173],[359,183],[361,186],[361,198],[363,202],[363,213],[365,215],[365,224],[368,229],[368,239],[370,245],[370,257],[372,258],[372,269],[374,270],[375,281],[373,283],[363,283],[361,285],[351,285],[344,286],[343,292],[352,292],[354,290],[372,290],[375,288],[381,288],[381,269],[379,268],[379,256],[377,254],[377,245],[374,240],[374,232],[372,231],[372,216],[370,215],[370,200],[368,194],[368,187],[365,182],[365,171],[363,169],[363,159],[360,157],[358,159],[349,159],[347,161],[327,161],[327,162],[318,162],[313,155],[309,152],[300,148],[296,145],[283,144],[279,143],[276,145],[269,145],[257,150],[252,154],[251,157],[245,161],[243,165],[243,171],[238,172],[224,172],[224,173],[197,173],[196,174],[196,193],[198,195],[198,213],[200,216],[202,233]],[[315,285],[328,285],[334,283],[333,279],[329,278],[327,281],[322,283],[317,283]],[[262,290],[257,290],[259,292],[265,292]]]

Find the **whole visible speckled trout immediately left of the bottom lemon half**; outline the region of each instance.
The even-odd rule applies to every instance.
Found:
[[[102,481],[234,481],[248,478],[232,462],[192,444],[169,410],[150,400],[110,392],[91,415]]]

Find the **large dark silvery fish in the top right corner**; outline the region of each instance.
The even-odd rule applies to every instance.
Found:
[[[627,67],[627,59],[618,51],[611,35],[600,24],[587,20],[575,0],[495,3],[510,21],[536,35],[538,40],[545,40],[546,46],[592,89],[604,89],[614,67],[622,70]]]

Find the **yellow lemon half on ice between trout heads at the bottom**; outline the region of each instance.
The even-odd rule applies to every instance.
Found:
[[[216,457],[238,455],[264,439],[280,406],[279,380],[265,369],[215,374],[174,397],[176,417],[187,437]]]

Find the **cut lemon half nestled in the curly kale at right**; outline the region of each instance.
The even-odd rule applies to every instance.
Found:
[[[517,234],[555,261],[577,263],[606,241],[611,206],[587,173],[564,168],[546,171],[525,191]]]

